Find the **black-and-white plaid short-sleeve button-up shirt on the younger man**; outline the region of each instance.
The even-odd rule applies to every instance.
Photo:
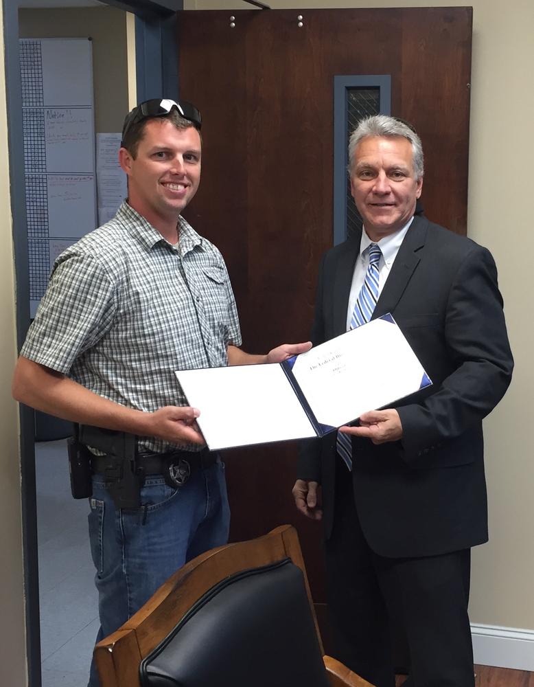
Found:
[[[227,365],[241,335],[220,252],[179,229],[172,246],[125,201],[58,257],[21,354],[126,407],[186,405],[173,371]]]

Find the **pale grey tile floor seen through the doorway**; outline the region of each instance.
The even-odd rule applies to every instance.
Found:
[[[43,687],[86,687],[99,626],[89,508],[71,496],[66,441],[35,453]]]

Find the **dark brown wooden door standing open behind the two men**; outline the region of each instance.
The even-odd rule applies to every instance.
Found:
[[[392,114],[426,152],[425,212],[465,233],[471,34],[471,8],[181,12],[180,94],[204,121],[185,216],[227,260],[245,350],[309,335],[332,245],[335,75],[391,74]],[[231,537],[293,523],[321,615],[321,526],[294,510],[295,456],[293,443],[227,452]]]

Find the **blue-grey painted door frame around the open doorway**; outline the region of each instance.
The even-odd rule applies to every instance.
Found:
[[[137,100],[178,96],[176,12],[183,0],[103,0],[135,14]],[[11,213],[15,260],[16,338],[20,350],[30,326],[30,280],[24,179],[19,7],[23,0],[3,0],[5,86],[8,105]],[[43,7],[47,5],[43,0]],[[34,411],[24,405],[21,420],[21,475],[28,684],[40,687],[39,585],[34,452]]]

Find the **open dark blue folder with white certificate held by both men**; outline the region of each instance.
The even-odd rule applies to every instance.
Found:
[[[283,363],[175,374],[210,449],[324,436],[431,384],[391,315]]]

